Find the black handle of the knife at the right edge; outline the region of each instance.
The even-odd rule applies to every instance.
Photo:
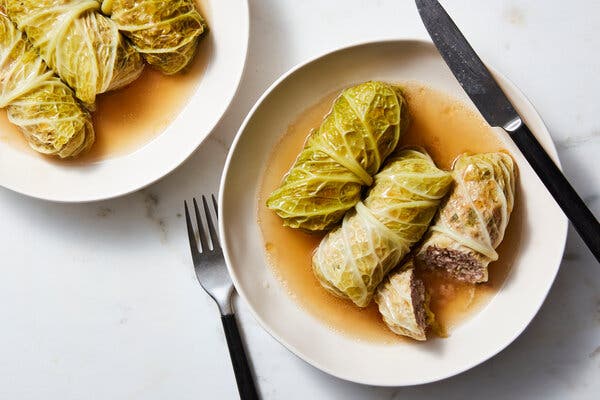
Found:
[[[554,200],[571,220],[579,236],[600,262],[600,224],[594,214],[525,124],[521,123],[514,130],[509,130],[509,133]]]

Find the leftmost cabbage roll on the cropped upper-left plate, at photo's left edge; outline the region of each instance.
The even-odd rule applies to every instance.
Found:
[[[94,143],[89,112],[0,13],[0,108],[36,151],[76,156]]]

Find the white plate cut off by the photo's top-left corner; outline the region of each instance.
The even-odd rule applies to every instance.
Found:
[[[84,165],[48,162],[0,141],[0,186],[52,201],[102,200],[149,185],[185,161],[227,111],[248,49],[247,0],[201,3],[212,54],[197,90],[163,133],[131,154]]]

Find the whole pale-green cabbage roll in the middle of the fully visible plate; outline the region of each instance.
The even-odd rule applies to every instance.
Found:
[[[375,176],[364,203],[317,247],[313,271],[336,296],[366,307],[377,285],[421,239],[452,175],[416,150],[402,150]]]

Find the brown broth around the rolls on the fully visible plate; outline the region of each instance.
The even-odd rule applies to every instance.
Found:
[[[411,117],[400,146],[425,148],[438,167],[443,169],[451,169],[453,160],[461,153],[503,149],[500,139],[481,116],[462,102],[416,83],[400,86],[404,89]],[[290,296],[331,329],[359,340],[385,343],[406,340],[386,327],[374,302],[360,309],[350,301],[326,292],[314,277],[311,266],[312,253],[324,234],[286,228],[265,205],[269,194],[279,186],[294,163],[309,131],[320,125],[338,94],[339,91],[326,96],[302,113],[288,127],[272,152],[258,198],[258,219],[265,251],[274,274]],[[521,209],[517,194],[505,239],[497,249],[499,260],[489,267],[489,282],[472,285],[436,273],[419,272],[432,293],[432,311],[450,335],[457,325],[481,310],[502,287],[518,250]]]

